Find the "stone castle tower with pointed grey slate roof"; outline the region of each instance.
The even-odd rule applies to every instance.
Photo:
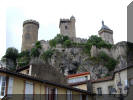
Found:
[[[104,25],[104,22],[103,21],[102,21],[102,27],[98,31],[98,34],[100,35],[100,37],[105,42],[110,43],[110,44],[114,44],[113,31],[109,27],[107,27],[106,25]]]

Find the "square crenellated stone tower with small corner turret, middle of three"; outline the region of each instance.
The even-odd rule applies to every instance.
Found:
[[[71,16],[70,19],[60,19],[60,33],[70,38],[76,38],[75,21],[74,16]]]

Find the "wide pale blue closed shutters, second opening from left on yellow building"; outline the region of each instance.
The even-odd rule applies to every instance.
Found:
[[[33,100],[33,83],[25,83],[25,100]]]

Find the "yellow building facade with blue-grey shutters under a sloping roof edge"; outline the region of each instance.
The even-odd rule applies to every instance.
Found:
[[[0,100],[92,100],[90,92],[3,68],[0,84]]]

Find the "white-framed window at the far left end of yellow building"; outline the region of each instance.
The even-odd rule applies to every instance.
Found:
[[[6,77],[0,76],[0,98],[5,96],[6,90]]]

